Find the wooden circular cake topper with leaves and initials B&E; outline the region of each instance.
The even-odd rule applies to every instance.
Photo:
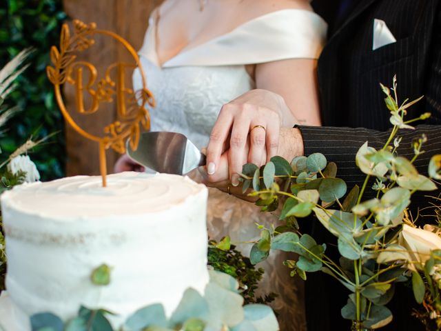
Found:
[[[67,23],[63,24],[61,29],[60,48],[52,46],[50,49],[50,59],[54,66],[46,68],[48,78],[54,84],[55,97],[57,103],[68,123],[79,132],[83,137],[97,141],[99,143],[99,161],[100,172],[103,178],[103,187],[107,184],[107,166],[105,161],[105,150],[113,148],[116,152],[125,153],[125,139],[130,139],[130,147],[136,150],[139,143],[140,126],[146,130],[150,129],[150,114],[145,108],[147,104],[154,107],[154,97],[147,90],[145,75],[139,61],[139,56],[130,44],[114,32],[106,30],[96,30],[96,24],[85,24],[79,20],[74,20],[74,35],[70,36],[70,30]],[[112,63],[105,70],[103,79],[97,79],[97,70],[92,63],[86,61],[75,61],[74,52],[83,52],[94,45],[94,35],[104,34],[107,37],[116,39],[130,52],[134,58],[134,63]],[[125,69],[134,69],[138,67],[143,81],[143,88],[134,92],[125,86]],[[87,83],[83,82],[83,70],[88,72]],[[116,71],[116,79],[111,78],[112,72]],[[64,83],[70,83],[75,88],[76,111],[80,114],[90,115],[99,110],[100,103],[110,103],[112,97],[116,95],[116,121],[103,130],[103,136],[99,137],[83,130],[70,116],[66,110],[61,95],[61,86]],[[90,108],[85,109],[84,94],[88,93],[90,97]]]

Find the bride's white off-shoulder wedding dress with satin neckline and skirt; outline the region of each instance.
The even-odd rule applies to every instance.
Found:
[[[327,30],[325,21],[314,12],[278,10],[185,50],[160,66],[156,20],[154,13],[139,51],[147,88],[156,99],[150,113],[151,130],[181,132],[198,148],[207,146],[220,108],[256,88],[245,69],[247,64],[317,59]],[[133,81],[135,90],[142,88],[139,71],[134,72]],[[234,243],[243,243],[258,237],[256,223],[269,228],[276,221],[252,203],[209,190],[207,226],[213,239],[229,235]],[[248,255],[251,245],[240,244],[238,248]],[[272,306],[279,314],[280,330],[305,330],[302,281],[289,277],[289,270],[282,265],[287,256],[274,255],[261,263],[265,279],[260,290],[278,294]]]

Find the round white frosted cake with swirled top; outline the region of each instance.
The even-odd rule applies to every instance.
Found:
[[[203,293],[207,189],[186,177],[124,172],[14,187],[1,196],[8,295],[28,316],[76,316],[80,305],[121,317],[152,303],[170,316],[186,288]],[[109,285],[90,275],[103,263]]]

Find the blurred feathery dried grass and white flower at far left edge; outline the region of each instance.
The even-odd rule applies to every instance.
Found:
[[[29,49],[21,51],[16,57],[14,57],[14,59],[8,62],[3,69],[0,70],[0,138],[1,135],[6,132],[6,130],[1,129],[3,129],[3,126],[5,126],[8,119],[20,111],[19,107],[15,106],[8,108],[8,106],[5,106],[3,102],[6,97],[8,97],[8,94],[14,90],[14,80],[19,77],[21,72],[28,68],[28,65],[23,66],[23,62],[28,58],[31,52],[32,50]],[[28,152],[28,150],[31,150],[45,139],[40,141],[28,139],[28,141],[23,143],[22,146],[12,152],[12,154],[6,157],[6,160],[0,164],[0,193],[4,190],[9,190],[14,185],[18,185],[23,182],[38,181],[40,179],[40,174],[37,167],[30,160],[30,157],[25,154]],[[5,239],[1,226],[0,213],[0,292],[4,289],[4,275],[6,273],[6,254],[4,248]]]

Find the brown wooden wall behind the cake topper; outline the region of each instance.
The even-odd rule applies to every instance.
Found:
[[[136,50],[141,48],[150,12],[162,0],[63,0],[65,12],[71,19],[84,23],[95,22],[97,28],[110,30],[129,41]],[[93,51],[82,55],[85,61],[93,63],[98,70],[99,63],[123,61],[127,53],[111,39],[97,39]],[[105,112],[90,118],[74,115],[75,99],[71,86],[65,86],[65,103],[75,121],[86,131],[96,132],[116,117],[116,107],[112,104]],[[66,174],[99,174],[98,144],[88,141],[66,126],[68,162]],[[107,150],[107,172],[111,173],[114,162],[119,157],[113,150]]]

